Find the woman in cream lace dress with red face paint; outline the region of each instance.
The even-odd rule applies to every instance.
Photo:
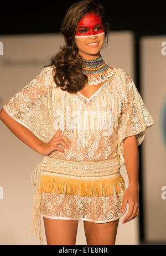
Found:
[[[154,120],[132,78],[101,56],[109,30],[103,12],[97,1],[73,4],[61,24],[61,51],[1,111],[12,132],[44,156],[32,181],[32,229],[41,244],[40,214],[48,244],[75,244],[79,220],[87,244],[115,244],[127,203],[123,223],[139,213],[138,145]]]

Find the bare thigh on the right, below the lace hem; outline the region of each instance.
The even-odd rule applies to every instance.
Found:
[[[95,223],[84,220],[87,244],[115,244],[119,219],[113,222]]]

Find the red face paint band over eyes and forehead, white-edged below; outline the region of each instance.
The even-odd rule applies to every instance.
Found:
[[[86,13],[79,21],[75,37],[100,36],[100,34],[104,33],[102,18],[96,13]]]

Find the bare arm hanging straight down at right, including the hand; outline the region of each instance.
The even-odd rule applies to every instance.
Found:
[[[122,212],[129,204],[129,211],[123,219],[123,223],[136,218],[139,213],[139,182],[138,165],[139,153],[136,135],[123,140],[125,166],[128,174],[129,184],[123,196]]]

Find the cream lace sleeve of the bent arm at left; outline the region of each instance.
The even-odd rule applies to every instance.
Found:
[[[49,122],[49,92],[51,68],[43,68],[40,74],[4,104],[4,110],[27,127],[44,143],[54,135]]]

